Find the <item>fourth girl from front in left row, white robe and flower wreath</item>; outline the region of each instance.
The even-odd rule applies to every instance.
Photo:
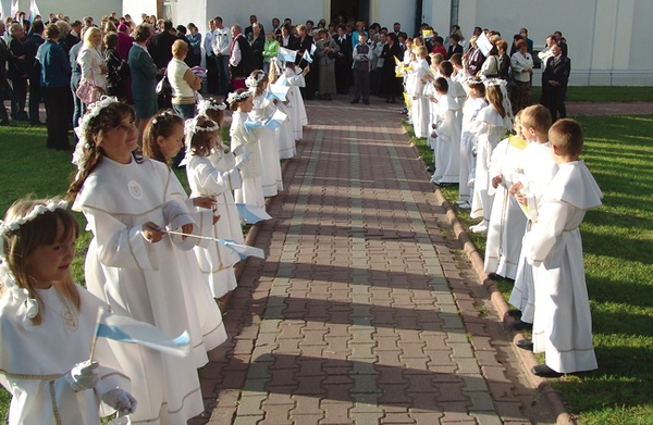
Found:
[[[198,197],[221,197],[231,192],[234,188],[242,185],[241,168],[243,163],[234,164],[229,171],[221,171],[215,167],[211,157],[218,151],[217,141],[220,137],[220,126],[218,123],[209,120],[205,115],[198,115],[193,121],[186,122],[186,175],[192,195]],[[224,154],[224,152],[222,152]],[[233,155],[232,155],[233,157]],[[244,155],[245,158],[247,155]],[[218,202],[220,210],[225,211],[226,227],[230,227],[230,216],[235,215],[235,204],[233,198],[229,200],[231,205],[227,209],[224,198]],[[218,207],[217,207],[218,208]],[[222,216],[211,226],[208,236],[213,238],[229,239],[229,229],[223,230]],[[211,289],[213,298],[220,299],[227,292],[236,288],[236,275],[234,265],[238,259],[233,251],[222,243],[209,241],[206,245],[197,247],[195,254],[201,273],[208,287]]]

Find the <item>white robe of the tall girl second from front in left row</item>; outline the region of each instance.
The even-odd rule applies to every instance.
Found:
[[[114,312],[150,323],[170,337],[188,330],[194,350],[206,351],[196,330],[196,311],[188,311],[186,275],[173,242],[192,249],[195,238],[164,235],[151,243],[143,236],[143,224],[180,229],[193,224],[186,205],[174,199],[168,165],[147,158],[121,164],[102,158],[77,195],[73,209],[82,211],[94,234],[85,263],[88,289],[104,299]],[[195,226],[194,226],[195,227]],[[147,378],[136,385],[138,409],[134,421],[181,424],[204,411],[197,365],[186,358],[149,351],[161,364],[144,363]],[[127,371],[125,371],[127,372]],[[128,374],[128,373],[127,373]]]

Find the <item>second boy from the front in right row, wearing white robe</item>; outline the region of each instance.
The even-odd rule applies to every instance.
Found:
[[[517,173],[513,176],[514,183],[509,191],[513,195],[522,195],[527,199],[522,211],[527,217],[525,234],[528,234],[532,223],[538,220],[542,193],[557,173],[557,164],[551,157],[549,147],[549,110],[541,104],[523,109],[520,127],[529,143],[521,153],[521,164],[516,167]],[[535,290],[532,267],[526,261],[525,252],[519,255],[515,286],[508,302],[521,312],[520,320],[513,323],[512,327],[517,330],[530,327],[535,312]],[[517,341],[518,347],[530,349],[529,340],[521,341]]]

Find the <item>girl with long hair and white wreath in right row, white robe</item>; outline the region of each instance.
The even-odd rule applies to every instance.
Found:
[[[488,232],[492,211],[492,196],[488,192],[491,186],[490,159],[503,135],[513,128],[513,122],[510,121],[512,108],[505,89],[505,82],[493,79],[489,80],[485,86],[485,98],[490,104],[479,112],[470,129],[477,138],[477,162],[469,216],[471,218],[482,218],[479,224],[469,227],[473,233]]]

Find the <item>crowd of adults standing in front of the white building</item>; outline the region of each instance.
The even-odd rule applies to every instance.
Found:
[[[47,21],[37,16],[33,23],[19,14],[0,22],[0,124],[10,122],[7,99],[11,120],[41,125],[42,100],[48,148],[71,149],[67,132],[85,112],[77,96],[79,86],[90,85],[99,93],[133,103],[143,132],[161,108],[172,108],[185,118],[195,115],[194,93],[201,87],[204,70],[205,91],[226,96],[244,88],[251,71],[268,72],[280,49],[296,52],[295,63],[310,67],[301,88],[306,100],[329,101],[335,93],[354,89],[352,103],[369,104],[370,95],[395,103],[403,92],[397,62],[409,60],[407,47],[422,45],[431,53],[429,61],[458,63],[470,77],[506,79],[515,112],[531,104],[532,72],[541,63],[541,102],[552,116],[566,115],[570,61],[559,32],[546,38],[546,47],[534,58],[526,28],[513,37],[508,49],[505,37],[480,27],[467,41],[457,25],[442,37],[424,24],[414,38],[402,30],[401,23],[389,29],[344,14],[332,23],[319,20],[317,25],[311,20],[297,25],[289,17],[283,22],[274,17],[267,28],[251,15],[244,30],[238,24],[225,26],[218,16],[209,21],[204,37],[193,23],[175,27],[171,21],[147,14],[140,21],[137,25],[130,15],[112,13],[97,24],[93,17],[71,22],[63,14],[50,14]],[[492,43],[486,54],[477,45],[481,35]]]

